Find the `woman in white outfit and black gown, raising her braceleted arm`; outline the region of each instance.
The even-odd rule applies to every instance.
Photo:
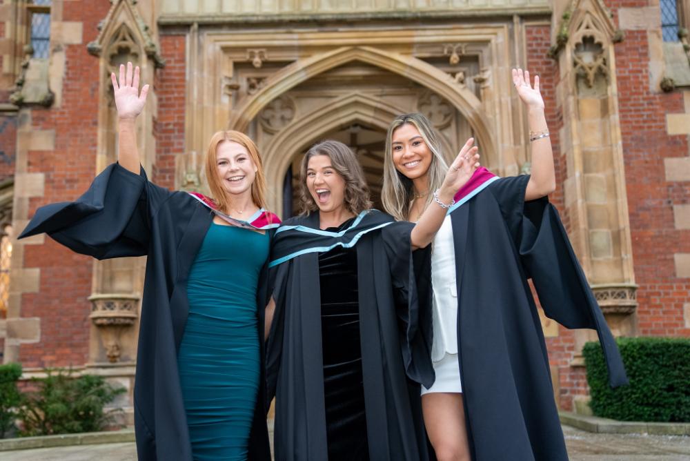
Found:
[[[527,278],[548,317],[595,328],[612,386],[627,381],[611,332],[546,195],[553,154],[539,77],[513,70],[527,108],[531,176],[499,178],[478,168],[442,197],[446,171],[437,133],[424,115],[393,120],[386,136],[384,208],[415,222],[445,208],[433,237],[431,286],[420,288],[408,337],[420,353],[410,377],[422,384],[424,423],[446,460],[567,460],[549,358]],[[436,192],[434,192],[436,191]],[[426,295],[426,296],[425,296]],[[426,297],[426,299],[422,299]]]

